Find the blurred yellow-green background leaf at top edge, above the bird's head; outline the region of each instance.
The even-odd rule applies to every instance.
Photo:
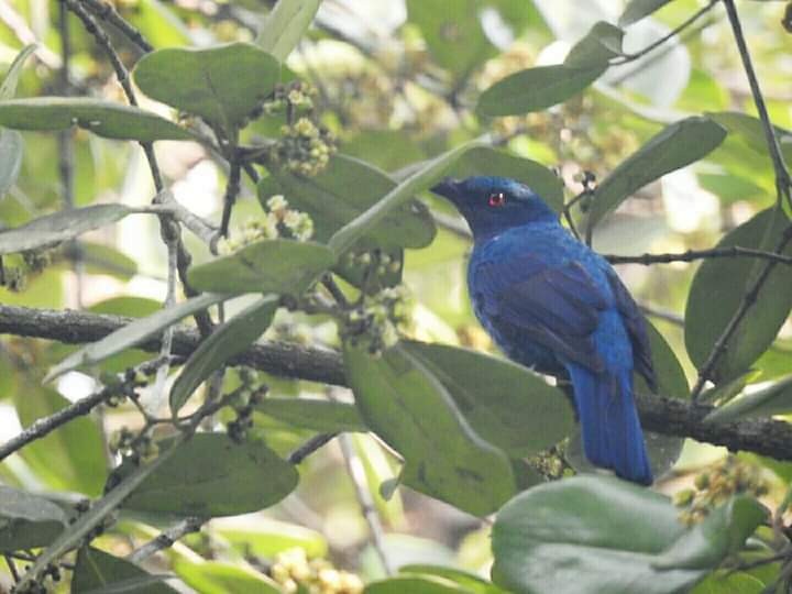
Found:
[[[417,24],[429,54],[458,77],[466,77],[496,51],[484,34],[481,2],[462,0],[407,0],[407,19]]]

